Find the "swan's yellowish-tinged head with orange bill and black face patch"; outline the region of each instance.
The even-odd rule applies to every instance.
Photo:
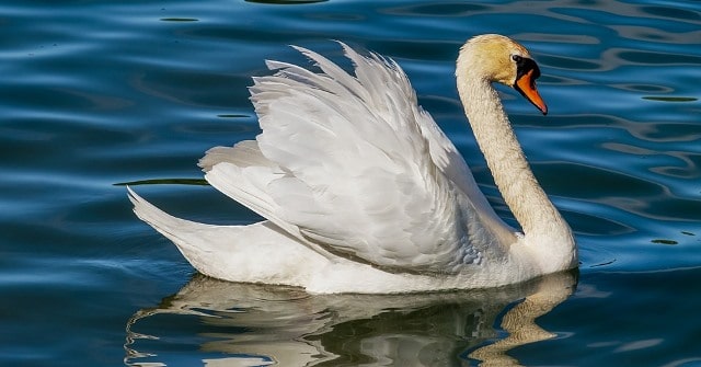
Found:
[[[543,115],[548,113],[536,88],[538,65],[526,47],[506,36],[485,34],[470,38],[460,49],[456,73],[458,78],[470,74],[512,87]]]

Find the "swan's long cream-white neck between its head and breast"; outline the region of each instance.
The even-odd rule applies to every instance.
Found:
[[[531,243],[555,246],[560,262],[576,261],[574,239],[533,176],[491,82],[469,68],[458,68],[458,91],[480,150],[506,205]],[[544,250],[544,249],[541,249]],[[568,264],[570,265],[570,264]]]

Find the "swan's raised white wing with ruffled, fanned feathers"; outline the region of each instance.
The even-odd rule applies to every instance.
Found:
[[[450,154],[445,163],[434,161],[432,153],[446,145],[432,147],[439,139],[426,130],[437,127],[418,107],[404,72],[344,48],[355,77],[299,48],[322,73],[269,61],[278,72],[255,79],[252,101],[263,128],[257,141],[267,161],[245,168],[263,170],[254,174],[258,181],[243,179],[250,186],[243,204],[295,236],[380,266],[450,272],[479,263],[485,251],[501,253],[462,183],[446,176],[467,167],[452,169]],[[432,126],[422,127],[426,121]],[[245,173],[233,172],[235,159],[216,161],[227,169],[214,164],[207,179],[241,200],[232,186]],[[233,173],[217,180],[225,172]]]

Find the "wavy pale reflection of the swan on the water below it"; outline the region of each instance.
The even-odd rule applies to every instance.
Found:
[[[498,289],[310,296],[198,275],[158,307],[131,317],[125,363],[458,366],[469,357],[481,366],[518,365],[506,352],[553,336],[535,319],[565,300],[575,282],[563,273]],[[508,335],[497,340],[496,319],[507,308],[501,326]],[[184,352],[187,343],[195,351]]]

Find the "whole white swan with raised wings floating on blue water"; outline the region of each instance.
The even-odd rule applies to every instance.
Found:
[[[127,187],[136,215],[199,273],[313,294],[490,288],[577,266],[572,230],[532,174],[492,85],[514,88],[547,114],[540,70],[524,46],[475,36],[456,68],[466,115],[518,231],[418,106],[401,67],[340,44],[353,74],[297,46],[320,71],[266,61],[276,72],[250,88],[262,133],[199,161],[211,186],[265,220],[193,222]]]

